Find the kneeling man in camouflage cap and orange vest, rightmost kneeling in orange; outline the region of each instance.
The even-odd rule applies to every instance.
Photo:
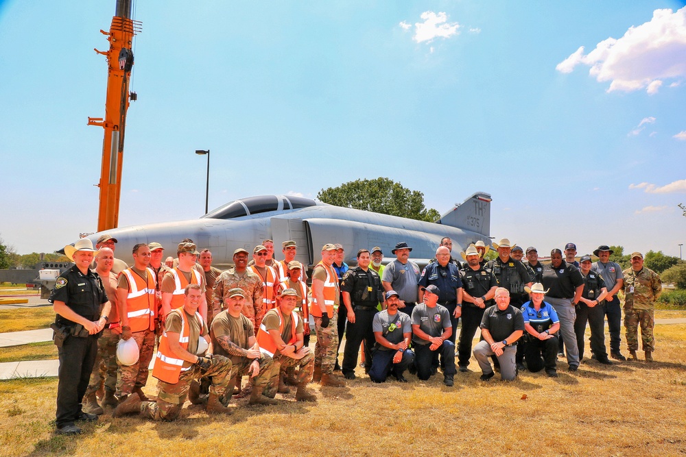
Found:
[[[257,331],[257,343],[263,354],[274,360],[272,373],[265,388],[264,395],[274,398],[279,384],[281,368],[299,367],[296,380],[298,402],[316,402],[317,397],[307,391],[307,383],[312,380],[314,371],[314,354],[303,343],[303,319],[293,310],[298,303],[298,293],[295,289],[287,288],[276,297],[278,308],[267,312]]]

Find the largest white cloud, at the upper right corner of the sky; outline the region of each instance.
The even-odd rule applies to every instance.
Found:
[[[608,92],[646,88],[657,93],[663,79],[686,76],[686,7],[654,10],[650,21],[629,27],[622,38],[607,38],[586,55],[582,46],[556,69],[571,73],[578,64],[590,66],[598,82],[609,81]]]

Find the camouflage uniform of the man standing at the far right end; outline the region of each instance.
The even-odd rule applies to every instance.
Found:
[[[655,300],[662,293],[662,281],[657,273],[643,267],[641,271],[628,268],[624,274],[624,328],[626,345],[630,351],[639,348],[638,327],[641,325],[643,351],[654,351],[652,335]]]

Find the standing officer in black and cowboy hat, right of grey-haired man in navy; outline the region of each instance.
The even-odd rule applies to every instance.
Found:
[[[479,251],[470,246],[464,253],[466,267],[460,270],[462,280],[462,330],[458,344],[458,366],[462,373],[468,371],[471,345],[477,328],[484,317],[484,310],[495,305],[495,289],[498,282],[493,272],[480,263]]]

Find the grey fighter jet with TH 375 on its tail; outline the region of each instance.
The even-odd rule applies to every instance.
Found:
[[[438,221],[423,222],[375,212],[341,208],[321,201],[289,195],[261,195],[226,203],[200,219],[149,225],[133,225],[106,230],[88,236],[95,240],[103,234],[117,238],[115,256],[132,264],[131,250],[137,243],[156,241],[165,247],[165,256],[176,256],[183,238],[191,238],[198,250],[210,249],[213,264],[233,264],[233,251],[252,249],[265,239],[274,240],[275,257],[281,254],[281,243],[295,240],[296,260],[314,267],[326,243],[340,243],[346,251],[346,262],[355,264],[357,250],[379,246],[392,260],[396,243],[407,242],[413,248],[410,258],[426,264],[436,254],[440,239],[453,240],[453,258],[469,243],[490,243],[490,195],[475,193],[463,203],[456,203]]]

